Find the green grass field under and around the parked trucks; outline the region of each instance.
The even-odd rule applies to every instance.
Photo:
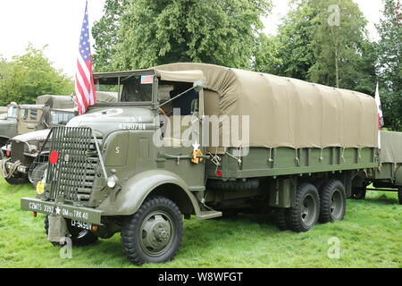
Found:
[[[0,181],[0,267],[135,267],[121,250],[120,234],[59,256],[37,218],[20,210],[29,185]],[[240,214],[231,219],[185,222],[182,247],[163,265],[142,267],[402,267],[402,206],[396,192],[369,192],[348,200],[345,220],[317,224],[306,233],[279,231],[271,215]],[[330,259],[328,240],[337,237],[341,257]]]

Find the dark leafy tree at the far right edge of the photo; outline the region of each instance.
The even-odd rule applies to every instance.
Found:
[[[402,130],[402,4],[397,0],[385,0],[384,18],[377,26],[381,37],[379,68],[381,104],[385,126]]]

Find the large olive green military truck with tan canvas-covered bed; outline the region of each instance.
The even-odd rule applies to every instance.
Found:
[[[308,231],[342,220],[379,166],[377,108],[358,92],[201,63],[95,79],[119,102],[53,128],[37,198],[21,198],[54,243],[121,232],[140,265],[175,256],[182,217],[271,209],[282,230]]]

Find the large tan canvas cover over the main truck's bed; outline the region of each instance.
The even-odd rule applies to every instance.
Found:
[[[250,147],[377,147],[377,107],[363,93],[205,63],[155,70],[203,71],[206,91],[219,95],[205,114],[249,115]]]

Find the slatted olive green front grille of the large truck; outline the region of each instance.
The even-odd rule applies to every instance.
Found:
[[[54,151],[58,153],[58,160],[48,165],[46,176],[50,198],[72,203],[88,201],[99,169],[92,130],[54,127],[50,156]]]

